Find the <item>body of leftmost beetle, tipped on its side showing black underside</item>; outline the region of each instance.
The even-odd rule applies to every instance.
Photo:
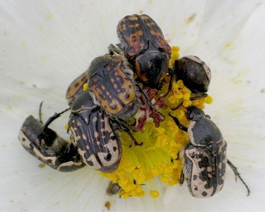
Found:
[[[59,137],[55,131],[42,128],[33,116],[28,116],[20,131],[22,146],[48,166],[62,172],[70,172],[84,166],[77,148]]]

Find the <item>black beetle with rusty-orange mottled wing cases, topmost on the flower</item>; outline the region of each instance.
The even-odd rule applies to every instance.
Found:
[[[148,15],[129,15],[117,26],[125,53],[139,81],[150,88],[160,88],[171,56],[171,47],[164,39],[160,27]]]

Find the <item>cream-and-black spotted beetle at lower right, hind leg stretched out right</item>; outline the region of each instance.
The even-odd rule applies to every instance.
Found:
[[[183,184],[186,177],[192,196],[209,197],[221,191],[225,180],[226,163],[245,185],[249,195],[248,186],[237,168],[227,159],[227,144],[210,116],[205,115],[204,111],[196,106],[188,107],[186,116],[190,121],[189,127],[182,125],[179,119],[170,113],[169,116],[181,130],[188,132],[190,138],[190,143],[180,154],[183,158],[180,184]]]

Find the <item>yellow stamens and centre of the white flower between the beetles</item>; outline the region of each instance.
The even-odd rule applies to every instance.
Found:
[[[172,46],[171,49],[169,67],[173,67],[175,59],[179,58],[180,48]],[[168,83],[162,87],[159,94],[166,93],[167,89]],[[186,132],[179,130],[168,114],[177,117],[182,124],[188,125],[185,116],[186,107],[195,105],[203,109],[205,103],[212,103],[209,95],[194,101],[190,101],[190,96],[191,91],[184,86],[183,81],[172,83],[171,91],[164,98],[167,107],[158,108],[165,116],[165,120],[159,127],[155,127],[152,120],[147,120],[143,131],[132,132],[137,142],[143,143],[142,146],[135,146],[129,135],[121,131],[123,152],[118,169],[112,173],[100,172],[101,176],[121,186],[120,196],[141,197],[145,195],[144,190],[149,190],[151,197],[159,197],[159,191],[154,190],[149,182],[155,177],[168,185],[179,183],[182,171],[182,159],[179,154],[189,143],[189,137]]]

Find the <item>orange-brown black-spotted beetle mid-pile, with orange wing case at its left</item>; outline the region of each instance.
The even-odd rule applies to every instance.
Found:
[[[95,58],[85,73],[75,79],[66,92],[69,105],[88,83],[98,105],[109,114],[126,119],[137,112],[137,90],[133,72],[120,56],[104,55]]]

